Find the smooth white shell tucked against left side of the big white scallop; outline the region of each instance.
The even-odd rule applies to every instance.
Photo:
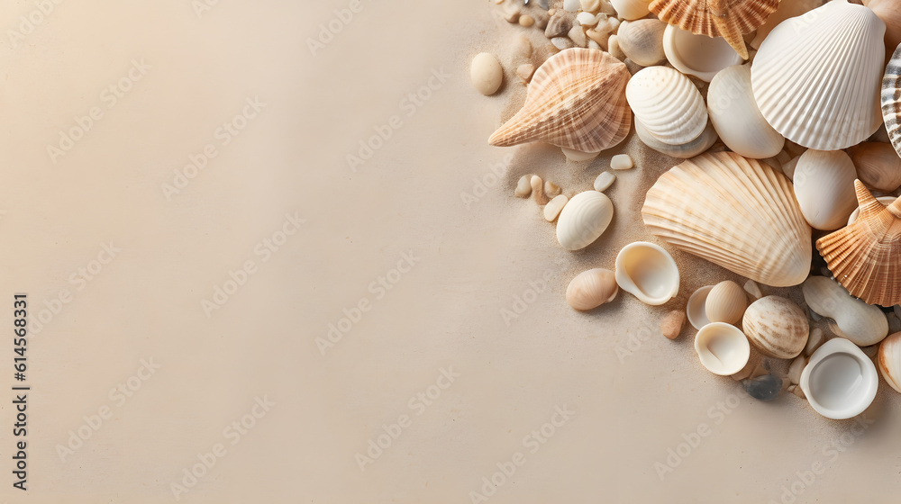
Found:
[[[773,157],[785,145],[754,101],[750,65],[724,68],[714,76],[707,87],[707,114],[726,147],[744,157]]]

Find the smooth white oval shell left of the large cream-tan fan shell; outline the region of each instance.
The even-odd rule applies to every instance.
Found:
[[[557,241],[567,250],[591,245],[614,218],[614,204],[604,193],[585,191],[566,203],[557,219]]]

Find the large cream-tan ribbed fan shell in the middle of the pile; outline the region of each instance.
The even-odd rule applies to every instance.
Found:
[[[675,247],[760,284],[787,287],[810,272],[810,227],[785,175],[733,152],[670,168],[648,191],[644,225]]]

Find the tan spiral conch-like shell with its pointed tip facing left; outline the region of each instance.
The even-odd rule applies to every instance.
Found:
[[[535,70],[523,108],[488,142],[510,147],[546,141],[582,152],[611,148],[632,126],[628,81],[623,62],[602,50],[562,50]]]

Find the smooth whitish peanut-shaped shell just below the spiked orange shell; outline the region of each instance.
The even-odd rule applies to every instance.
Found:
[[[833,330],[860,347],[876,345],[888,335],[888,320],[878,307],[857,298],[831,278],[811,276],[801,286],[812,311],[835,320]]]

